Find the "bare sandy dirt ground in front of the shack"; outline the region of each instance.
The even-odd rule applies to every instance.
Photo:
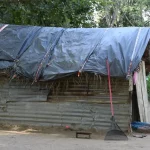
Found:
[[[104,134],[93,133],[91,139],[76,139],[75,131],[0,130],[0,150],[149,150],[150,135],[129,136],[128,141],[104,141]]]

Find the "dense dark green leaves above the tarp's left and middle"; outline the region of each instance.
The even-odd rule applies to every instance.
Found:
[[[0,4],[3,23],[94,27],[94,0],[4,0]]]

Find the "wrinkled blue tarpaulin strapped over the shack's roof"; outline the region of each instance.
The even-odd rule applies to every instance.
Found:
[[[56,28],[0,24],[0,69],[38,80],[77,72],[126,77],[150,40],[149,27]]]

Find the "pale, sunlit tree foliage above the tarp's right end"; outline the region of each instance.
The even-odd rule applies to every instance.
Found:
[[[101,13],[99,26],[149,26],[149,0],[109,0]],[[144,16],[145,14],[145,16]]]

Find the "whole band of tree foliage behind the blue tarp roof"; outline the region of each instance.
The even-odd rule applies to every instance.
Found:
[[[150,0],[0,0],[0,22],[56,27],[149,26]]]

